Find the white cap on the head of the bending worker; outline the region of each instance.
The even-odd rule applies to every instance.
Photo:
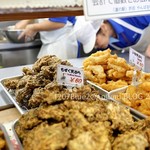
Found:
[[[89,53],[94,48],[96,42],[96,33],[100,29],[101,23],[101,19],[85,21],[85,23],[80,22],[80,20],[77,19],[75,27],[76,36],[77,40],[83,44],[83,50],[85,53]]]

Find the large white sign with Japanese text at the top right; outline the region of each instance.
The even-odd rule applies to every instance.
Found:
[[[149,0],[84,0],[87,20],[138,16],[150,13]]]

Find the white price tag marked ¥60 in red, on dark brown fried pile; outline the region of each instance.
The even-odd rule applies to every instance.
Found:
[[[84,84],[83,70],[80,68],[58,65],[57,82],[66,86],[82,86]]]

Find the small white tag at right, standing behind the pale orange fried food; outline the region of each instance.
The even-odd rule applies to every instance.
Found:
[[[129,49],[129,63],[137,67],[138,70],[144,71],[145,56],[130,47]]]

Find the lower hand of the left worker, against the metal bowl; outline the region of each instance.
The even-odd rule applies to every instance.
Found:
[[[29,24],[26,26],[25,30],[19,35],[18,39],[25,38],[25,41],[30,41],[37,34],[37,31],[34,30],[34,25]]]

